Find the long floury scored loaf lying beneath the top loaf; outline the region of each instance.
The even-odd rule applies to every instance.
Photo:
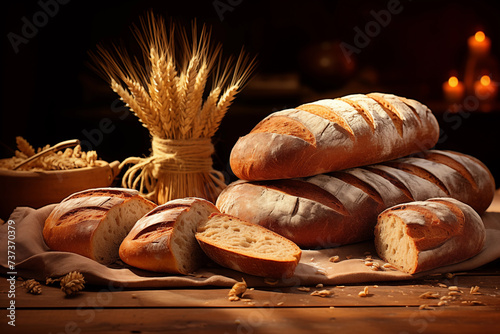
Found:
[[[493,176],[477,159],[429,150],[308,178],[239,180],[222,191],[216,205],[302,248],[327,248],[372,239],[377,216],[388,207],[451,197],[482,213],[494,192]]]

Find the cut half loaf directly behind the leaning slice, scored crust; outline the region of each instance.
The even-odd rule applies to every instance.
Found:
[[[213,212],[219,210],[211,202],[194,197],[160,205],[134,225],[120,246],[120,258],[150,271],[192,273],[204,259],[194,234]]]

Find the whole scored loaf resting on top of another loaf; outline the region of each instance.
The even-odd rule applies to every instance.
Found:
[[[275,112],[230,155],[243,180],[306,177],[432,148],[439,125],[425,105],[391,94],[354,94]]]

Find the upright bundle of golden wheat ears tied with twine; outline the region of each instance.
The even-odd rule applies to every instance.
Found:
[[[215,201],[226,186],[212,168],[211,138],[251,73],[255,58],[245,51],[222,59],[206,26],[182,26],[147,13],[133,33],[141,63],[123,47],[97,47],[91,54],[111,89],[151,134],[152,154],[129,157],[122,185],[138,189],[158,204],[197,196]]]

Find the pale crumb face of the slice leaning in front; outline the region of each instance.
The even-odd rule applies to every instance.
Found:
[[[293,260],[291,254],[296,253],[296,248],[287,239],[259,225],[242,223],[235,217],[212,216],[200,226],[198,236],[241,254],[270,260]]]

